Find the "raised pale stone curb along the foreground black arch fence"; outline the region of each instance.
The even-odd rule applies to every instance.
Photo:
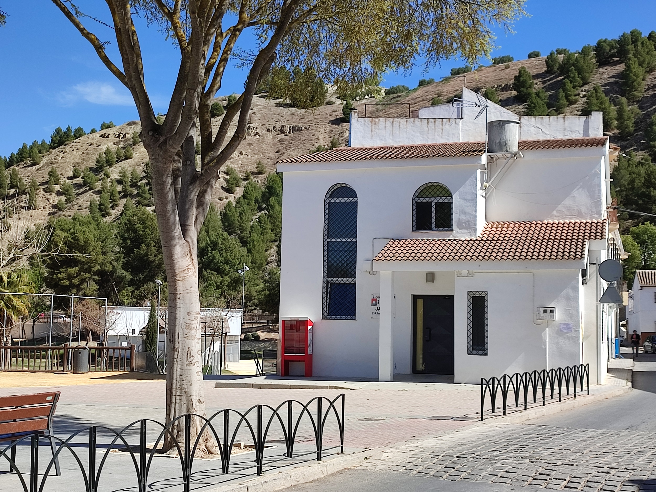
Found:
[[[207,492],[272,492],[287,489],[293,485],[312,482],[312,480],[317,480],[331,473],[344,470],[345,468],[357,466],[374,455],[381,454],[383,449],[369,449],[352,455],[338,456],[328,461],[313,462],[312,464],[298,466],[297,468],[261,475],[245,482],[221,485],[220,487],[209,489]]]

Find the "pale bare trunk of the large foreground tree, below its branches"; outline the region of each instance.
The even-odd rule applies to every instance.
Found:
[[[182,161],[182,173],[178,180],[195,169],[194,134],[182,146],[182,158],[155,155],[150,152],[153,164],[153,194],[157,225],[162,243],[162,253],[169,290],[167,329],[167,394],[166,424],[171,424],[186,413],[205,416],[205,392],[203,388],[203,352],[201,349],[201,313],[198,287],[197,236],[209,208],[197,206],[198,194],[194,188],[184,187],[188,196],[179,194],[179,182],[173,176],[178,173],[157,170],[174,169],[175,161]],[[211,181],[212,185],[215,180]],[[176,193],[177,192],[177,193]],[[189,195],[189,194],[192,195]],[[201,200],[204,202],[204,200]],[[192,419],[190,437],[192,445],[203,421]],[[173,436],[167,435],[165,448],[173,447],[172,438],[178,443],[184,438],[184,419],[176,420]],[[197,448],[197,456],[218,453],[215,441],[205,434]]]

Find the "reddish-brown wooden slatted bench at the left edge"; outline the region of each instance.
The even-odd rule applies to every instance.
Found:
[[[0,442],[14,443],[25,436],[37,434],[45,436],[56,453],[56,445],[52,438],[52,417],[59,400],[60,392],[35,393],[28,395],[0,396]],[[1,449],[1,448],[0,448]],[[11,448],[10,458],[16,462],[16,446]],[[57,475],[61,474],[59,459],[55,459],[54,468]],[[9,471],[12,471],[10,466]]]

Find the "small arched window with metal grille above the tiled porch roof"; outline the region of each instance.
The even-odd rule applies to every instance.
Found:
[[[453,230],[453,196],[441,183],[426,183],[412,199],[413,231]]]

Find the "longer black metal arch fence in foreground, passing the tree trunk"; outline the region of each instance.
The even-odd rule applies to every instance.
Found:
[[[344,452],[344,394],[340,394],[333,400],[319,396],[308,401],[308,403],[301,403],[297,400],[283,401],[277,407],[270,405],[254,405],[245,412],[239,412],[233,409],[224,409],[216,412],[211,417],[202,417],[196,414],[181,415],[173,420],[168,425],[161,424],[157,420],[142,419],[136,420],[129,424],[122,430],[113,430],[112,428],[102,426],[91,426],[83,430],[75,432],[65,440],[55,436],[43,436],[31,434],[22,436],[20,440],[12,442],[9,446],[0,451],[0,462],[4,462],[3,458],[9,462],[11,472],[15,472],[20,486],[24,492],[43,492],[48,490],[46,482],[54,474],[51,474],[53,466],[58,468],[58,459],[64,456],[64,451],[70,453],[73,461],[79,472],[81,472],[83,490],[86,492],[96,492],[100,486],[100,478],[102,471],[105,468],[110,452],[114,449],[121,449],[129,453],[131,465],[121,469],[121,476],[127,476],[129,470],[134,471],[136,478],[136,490],[138,492],[146,492],[150,489],[149,482],[154,479],[150,477],[151,465],[155,455],[161,454],[161,446],[165,439],[170,439],[172,443],[171,449],[174,451],[174,457],[179,461],[182,478],[180,480],[184,492],[190,492],[192,483],[194,483],[194,456],[201,444],[201,440],[213,439],[218,455],[220,457],[220,472],[228,474],[230,472],[230,461],[233,449],[236,445],[237,435],[240,431],[245,431],[245,434],[252,440],[252,447],[255,451],[255,468],[256,474],[262,474],[264,465],[264,451],[268,447],[267,438],[270,431],[274,427],[283,436],[283,440],[276,440],[276,443],[283,441],[284,453],[283,456],[287,459],[293,457],[295,451],[295,441],[298,438],[299,426],[302,422],[307,424],[309,422],[314,434],[314,447],[316,447],[316,459],[321,461],[324,446],[324,430],[329,417],[334,415],[337,423],[338,437],[339,437],[339,453]],[[198,422],[192,422],[197,419]],[[148,443],[147,430],[149,424],[159,429],[159,434],[154,443]],[[176,439],[173,428],[182,424],[183,432],[181,440]],[[191,439],[192,425],[198,424],[199,432],[195,440]],[[109,444],[99,445],[97,443],[99,431],[104,431],[112,436],[112,441]],[[129,444],[128,440],[134,438],[138,432],[138,444]],[[83,445],[88,449],[87,457],[81,457],[75,447],[80,447],[79,443],[73,443],[73,440],[78,436],[83,436],[83,433],[88,432],[88,446]],[[54,441],[55,445],[52,448],[52,457],[49,456],[49,461],[43,469],[39,471],[39,440]],[[272,441],[273,442],[273,441]],[[21,470],[17,463],[17,459],[12,459],[10,455],[15,455],[16,447],[18,445],[30,445],[30,465],[29,470]],[[51,443],[48,443],[49,451]],[[249,443],[249,447],[251,447]],[[106,449],[102,454],[102,458],[98,461],[98,450]],[[12,452],[13,451],[13,452]],[[314,453],[314,451],[313,451]],[[252,466],[252,465],[250,465]],[[43,468],[43,467],[42,467]],[[128,470],[129,468],[129,470]],[[243,471],[243,470],[242,470]],[[63,470],[62,470],[63,473]],[[7,476],[7,475],[5,475]],[[0,476],[1,480],[1,476]],[[67,480],[67,489],[70,488],[70,478]],[[110,479],[116,480],[115,476]],[[179,483],[179,482],[178,482]],[[208,485],[207,477],[203,478],[203,485]],[[1,488],[1,487],[0,487]],[[79,487],[76,487],[79,488]],[[170,489],[170,487],[167,487]],[[19,488],[20,490],[20,488]]]

